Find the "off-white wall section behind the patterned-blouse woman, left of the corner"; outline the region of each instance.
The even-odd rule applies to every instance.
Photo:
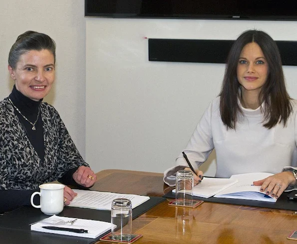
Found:
[[[7,59],[16,37],[26,30],[52,37],[56,48],[56,81],[44,101],[52,104],[85,155],[85,17],[84,0],[0,0],[0,100],[13,82]]]

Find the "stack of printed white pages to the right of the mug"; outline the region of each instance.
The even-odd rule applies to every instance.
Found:
[[[73,189],[73,191],[77,193],[77,196],[71,201],[68,206],[79,208],[111,210],[111,202],[113,199],[116,198],[129,199],[132,203],[132,208],[135,208],[150,199],[146,196],[132,194],[98,192],[78,189]]]

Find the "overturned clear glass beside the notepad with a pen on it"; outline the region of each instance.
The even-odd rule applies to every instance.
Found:
[[[132,233],[132,204],[129,199],[114,199],[111,204],[112,239],[130,241]]]

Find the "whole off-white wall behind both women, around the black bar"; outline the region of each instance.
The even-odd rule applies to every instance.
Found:
[[[13,86],[7,57],[17,35],[49,34],[57,44],[56,83],[45,101],[95,171],[163,172],[220,90],[224,65],[149,62],[144,37],[235,39],[256,27],[276,40],[297,40],[296,21],[85,18],[84,0],[0,3],[0,99]],[[297,67],[284,70],[297,98]],[[209,174],[214,170],[211,164]]]

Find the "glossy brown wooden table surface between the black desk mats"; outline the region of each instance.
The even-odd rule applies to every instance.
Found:
[[[103,170],[92,190],[162,196],[173,188],[163,174]],[[172,199],[150,209],[132,222],[142,234],[136,244],[297,244],[287,236],[297,230],[293,211],[204,202],[195,209],[168,206]]]

